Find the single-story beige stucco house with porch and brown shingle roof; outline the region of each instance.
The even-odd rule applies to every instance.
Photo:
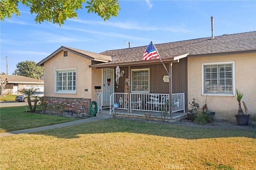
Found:
[[[44,96],[69,101],[68,105],[74,109],[81,105],[88,109],[90,101],[98,98],[102,99],[98,105],[111,108],[117,102],[118,108],[129,113],[158,111],[166,98],[172,101],[172,110],[186,112],[192,99],[202,106],[208,96],[208,107],[216,112],[217,119],[235,120],[238,111],[235,89],[238,89],[244,93],[243,101],[251,117],[256,119],[256,32],[155,46],[171,74],[170,79],[166,78],[159,59],[143,60],[146,46],[100,54],[62,46],[37,63],[44,66],[46,75]],[[118,81],[117,66],[121,73]],[[100,89],[94,89],[95,86]],[[185,111],[175,108],[181,105]]]

